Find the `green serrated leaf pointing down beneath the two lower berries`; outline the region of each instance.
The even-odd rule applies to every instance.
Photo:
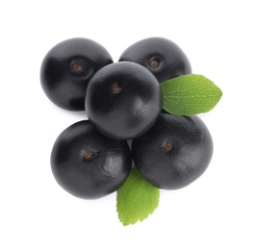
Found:
[[[153,213],[159,204],[160,191],[149,184],[137,168],[133,168],[126,182],[117,189],[116,210],[124,226],[135,224]]]

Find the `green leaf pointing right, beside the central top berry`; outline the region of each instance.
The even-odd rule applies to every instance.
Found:
[[[175,115],[209,112],[222,95],[218,86],[202,75],[184,75],[162,85],[163,109]]]

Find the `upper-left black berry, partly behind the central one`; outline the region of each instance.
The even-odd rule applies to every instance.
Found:
[[[113,63],[109,52],[88,38],[71,38],[54,46],[41,63],[40,82],[57,106],[69,111],[85,110],[91,76]]]

